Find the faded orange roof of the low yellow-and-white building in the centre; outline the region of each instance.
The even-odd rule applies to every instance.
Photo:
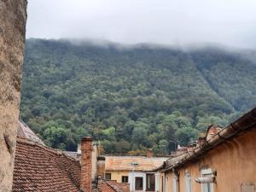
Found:
[[[106,171],[131,171],[131,163],[137,163],[135,171],[147,172],[161,166],[166,157],[105,156]]]

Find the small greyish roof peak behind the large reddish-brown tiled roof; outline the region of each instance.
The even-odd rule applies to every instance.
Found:
[[[34,143],[44,145],[42,140],[22,120],[19,122],[17,137],[26,138]]]

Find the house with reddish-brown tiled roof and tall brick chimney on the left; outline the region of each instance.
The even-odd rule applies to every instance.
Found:
[[[128,192],[129,185],[97,177],[96,151],[90,137],[81,140],[80,159],[49,148],[20,122],[13,192]]]

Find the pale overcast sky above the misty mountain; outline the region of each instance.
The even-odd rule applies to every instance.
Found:
[[[256,0],[29,0],[26,38],[256,47]]]

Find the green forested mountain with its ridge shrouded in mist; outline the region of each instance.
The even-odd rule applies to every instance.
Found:
[[[106,153],[168,153],[254,107],[256,65],[244,55],[29,39],[21,118],[55,148],[90,135]]]

